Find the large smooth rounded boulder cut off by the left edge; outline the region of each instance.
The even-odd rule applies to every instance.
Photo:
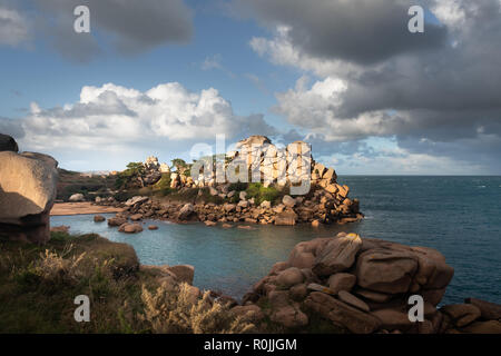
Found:
[[[58,162],[50,156],[14,151],[0,151],[0,235],[48,241]]]

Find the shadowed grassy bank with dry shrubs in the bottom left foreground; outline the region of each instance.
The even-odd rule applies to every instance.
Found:
[[[234,333],[254,326],[206,294],[163,284],[134,248],[98,235],[53,233],[45,246],[0,240],[0,333]],[[167,293],[168,290],[168,293]],[[73,299],[90,299],[77,323]]]

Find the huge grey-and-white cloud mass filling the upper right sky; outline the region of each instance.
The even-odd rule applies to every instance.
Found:
[[[413,50],[402,40],[409,34],[406,12],[375,8],[409,9],[407,2],[384,2],[316,0],[307,3],[310,10],[296,1],[253,2],[257,19],[275,28],[269,38],[253,38],[250,47],[276,65],[316,77],[276,93],[275,112],[326,142],[394,137],[409,155],[469,159],[471,167],[500,172],[501,49],[492,46],[501,36],[500,1],[422,1],[432,13],[425,24],[430,38],[407,42]],[[352,7],[358,7],[356,16]],[[341,22],[343,30],[324,20],[340,17],[350,19]],[[381,36],[386,17],[403,28],[391,19],[391,31]],[[377,34],[367,33],[371,29]],[[370,46],[351,47],[364,36]],[[372,53],[379,47],[383,50]]]

